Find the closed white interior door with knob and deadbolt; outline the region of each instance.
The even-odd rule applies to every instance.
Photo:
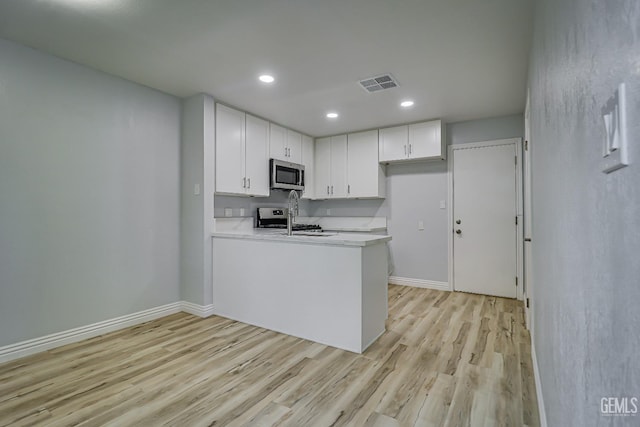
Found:
[[[516,297],[516,145],[453,150],[454,289]]]

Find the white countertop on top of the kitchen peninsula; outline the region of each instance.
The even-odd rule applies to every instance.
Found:
[[[212,237],[226,239],[269,240],[274,242],[305,243],[329,246],[370,246],[388,242],[391,236],[357,233],[294,233],[287,236],[285,230],[226,230],[214,231]]]

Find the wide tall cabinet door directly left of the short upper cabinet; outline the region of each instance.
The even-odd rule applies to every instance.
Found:
[[[347,139],[349,197],[378,197],[381,167],[378,163],[378,131],[349,134]]]

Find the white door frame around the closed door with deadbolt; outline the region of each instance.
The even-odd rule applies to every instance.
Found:
[[[516,276],[518,278],[518,288],[516,289],[516,299],[522,300],[522,284],[524,278],[523,260],[524,260],[524,238],[523,238],[523,200],[522,200],[522,138],[496,139],[490,141],[469,142],[465,144],[452,144],[448,147],[447,152],[447,197],[449,205],[449,214],[447,218],[447,227],[449,229],[449,290],[455,291],[455,277],[453,274],[453,233],[454,233],[454,212],[453,212],[453,154],[456,150],[464,150],[469,148],[493,147],[496,145],[514,144],[516,148],[516,215],[518,217],[518,226],[516,227]],[[514,218],[515,221],[515,218]]]

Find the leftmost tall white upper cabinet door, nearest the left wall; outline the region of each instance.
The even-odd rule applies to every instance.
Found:
[[[242,111],[216,104],[216,192],[245,193]]]

